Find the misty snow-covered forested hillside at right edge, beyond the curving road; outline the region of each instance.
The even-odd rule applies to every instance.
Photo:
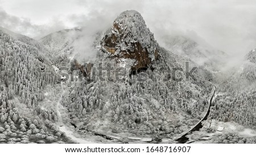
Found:
[[[234,121],[245,127],[255,128],[256,123],[256,64],[255,50],[246,54],[245,61],[234,74],[219,85],[210,115],[220,121]]]

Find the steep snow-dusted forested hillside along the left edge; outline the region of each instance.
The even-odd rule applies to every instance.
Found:
[[[55,110],[41,109],[46,85],[55,85],[57,75],[47,57],[34,43],[27,44],[0,31],[1,143],[64,143],[57,130]],[[32,39],[31,39],[32,40]],[[36,41],[34,41],[36,42]],[[45,56],[45,55],[44,55]]]

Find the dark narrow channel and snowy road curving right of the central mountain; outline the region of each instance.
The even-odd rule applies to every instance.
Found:
[[[210,83],[210,84],[212,84],[212,83]],[[194,131],[199,131],[200,128],[203,127],[202,122],[203,122],[203,120],[207,120],[208,115],[210,114],[210,106],[212,106],[213,97],[214,97],[216,89],[217,89],[215,85],[213,85],[213,87],[214,87],[214,90],[213,90],[212,96],[210,97],[210,100],[208,101],[209,105],[208,105],[207,113],[205,113],[205,116],[195,126],[193,126],[188,132],[186,132],[179,138],[175,139],[175,141],[178,141],[179,143],[186,143],[189,140],[187,135],[192,134],[192,132],[194,132]]]

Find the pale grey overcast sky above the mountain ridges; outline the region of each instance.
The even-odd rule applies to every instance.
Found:
[[[256,48],[256,2],[0,0],[0,26],[30,37],[64,28],[110,27],[125,10],[141,12],[156,40],[188,35],[231,55]]]

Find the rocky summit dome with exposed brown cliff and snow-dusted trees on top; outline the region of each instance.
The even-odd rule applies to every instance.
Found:
[[[159,48],[153,33],[141,14],[134,10],[124,11],[114,20],[101,45],[112,57],[135,59],[132,71],[146,70],[159,59]]]

